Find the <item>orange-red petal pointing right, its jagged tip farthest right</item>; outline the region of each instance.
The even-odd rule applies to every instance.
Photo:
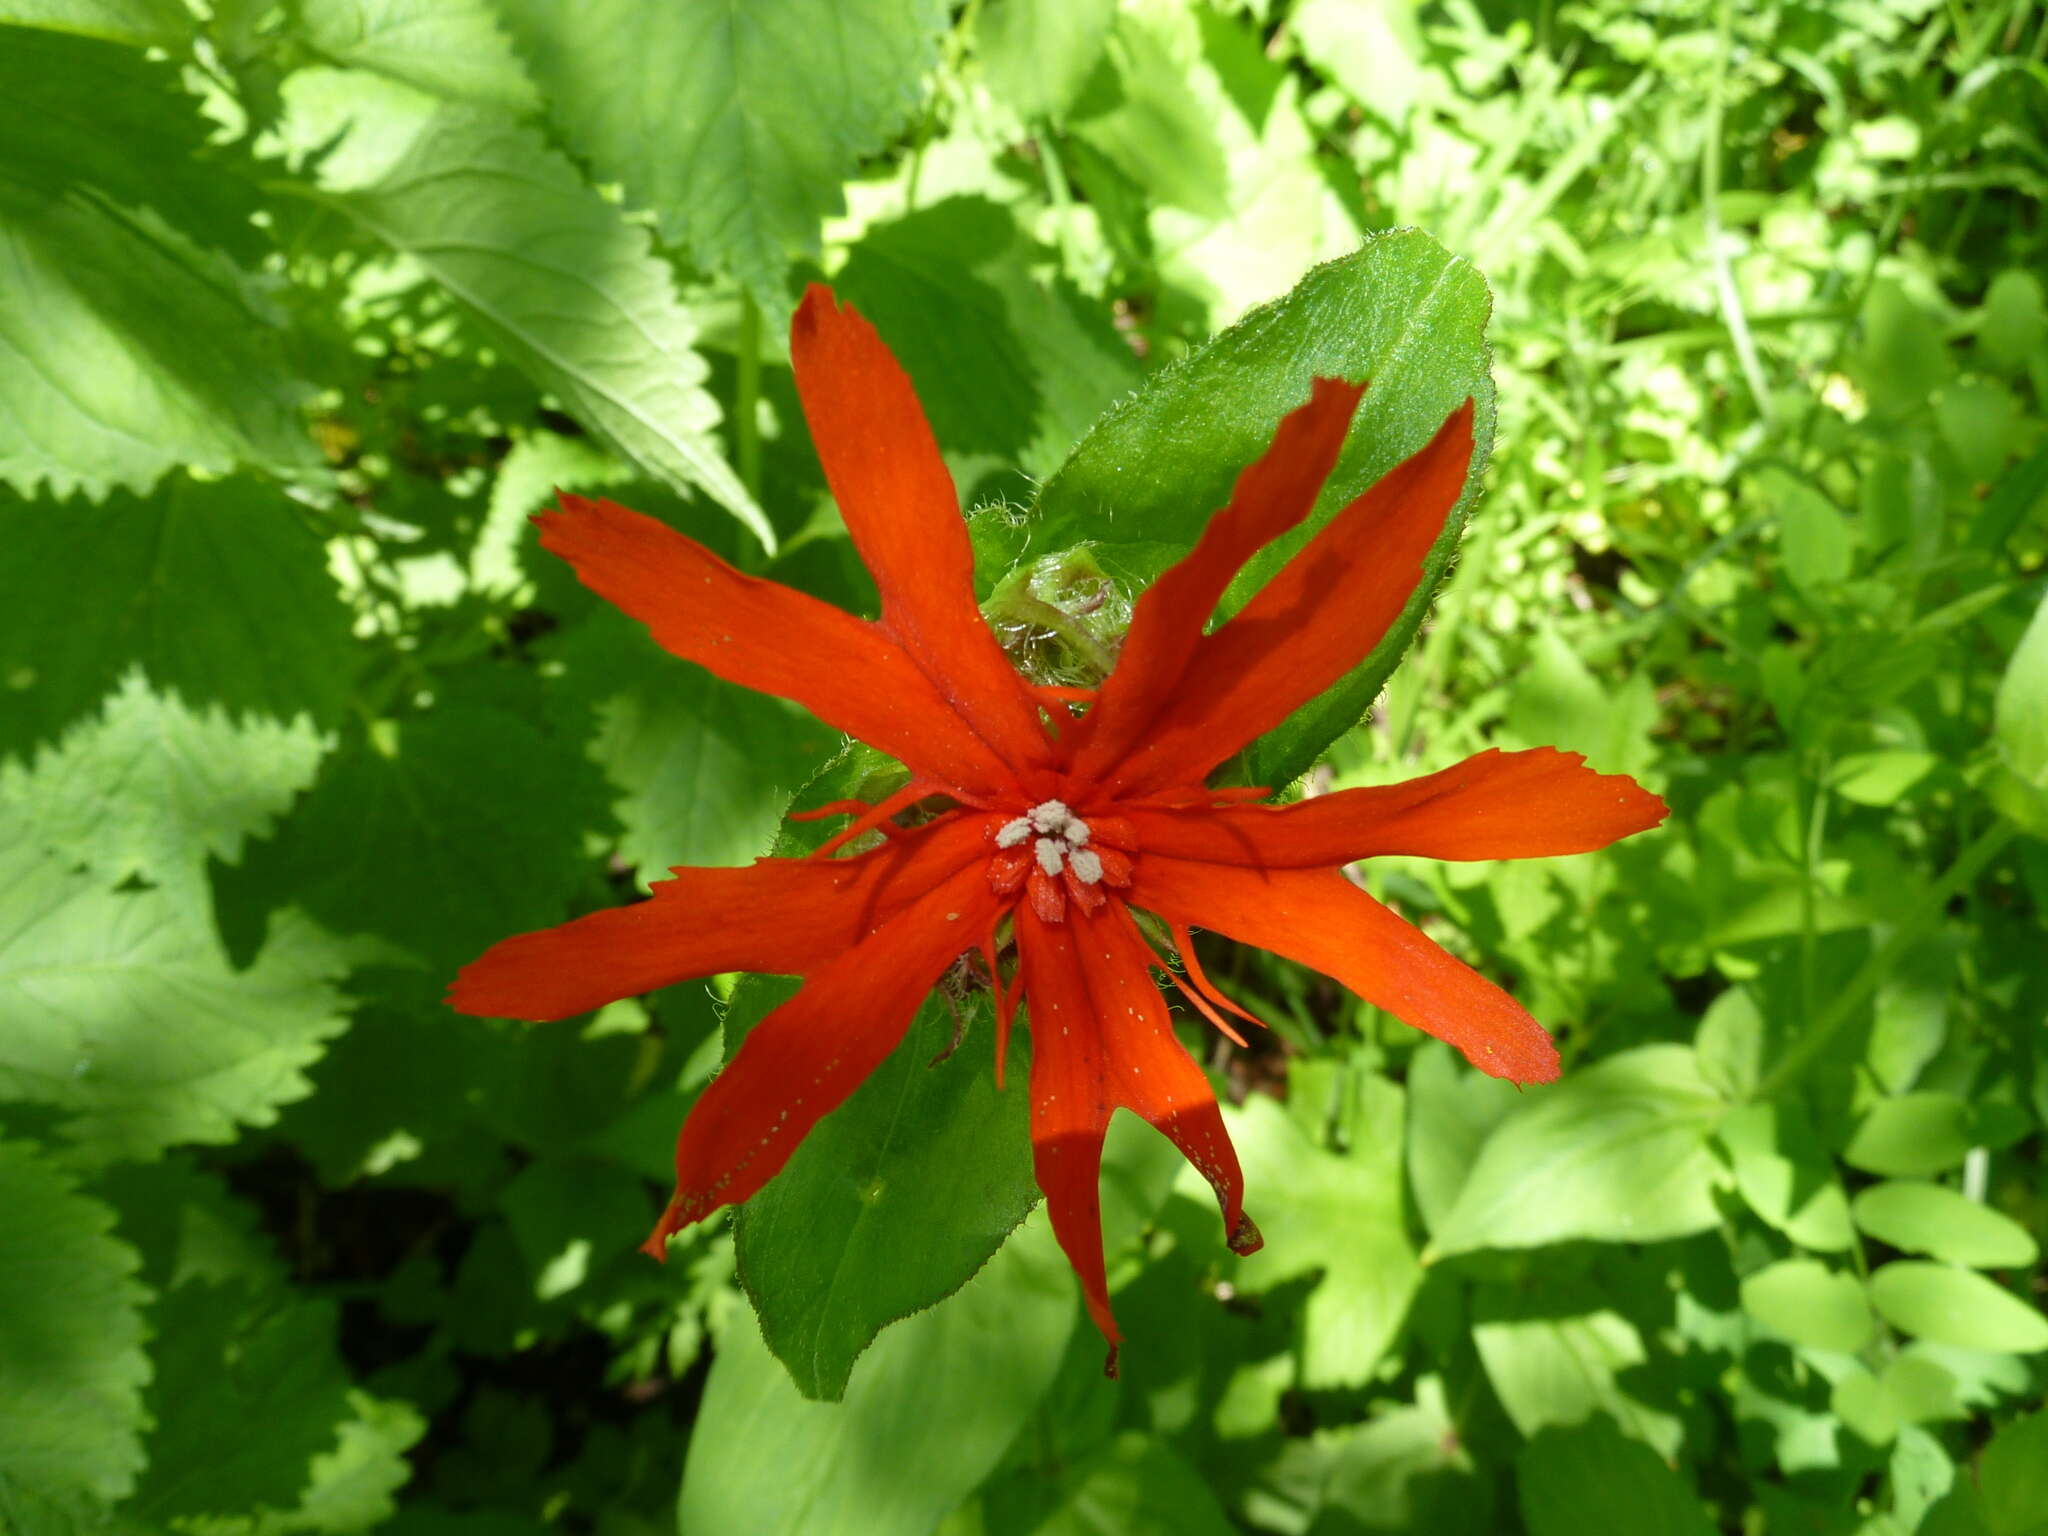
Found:
[[[1667,813],[1634,778],[1595,774],[1577,752],[1489,748],[1423,778],[1296,805],[1133,807],[1126,815],[1147,852],[1255,868],[1331,868],[1376,854],[1589,854],[1649,831]]]

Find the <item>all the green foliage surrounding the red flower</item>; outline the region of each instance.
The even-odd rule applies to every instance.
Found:
[[[684,1532],[2048,1532],[2044,57],[2032,0],[0,0],[0,1528],[641,1536],[680,1475]],[[1556,1087],[1206,956],[1270,1243],[1120,1122],[1120,1384],[1001,1243],[979,999],[666,1268],[762,983],[438,1004],[874,770],[524,524],[864,606],[815,276],[1040,666],[1315,367],[1358,483],[1477,393],[1407,666],[1243,772],[1554,741],[1673,805],[1360,870]]]

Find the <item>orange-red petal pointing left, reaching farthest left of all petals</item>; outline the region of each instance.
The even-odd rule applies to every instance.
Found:
[[[948,817],[858,858],[678,868],[647,901],[494,944],[463,967],[449,1006],[551,1020],[721,971],[807,975],[956,870],[981,879],[985,856],[979,825]]]

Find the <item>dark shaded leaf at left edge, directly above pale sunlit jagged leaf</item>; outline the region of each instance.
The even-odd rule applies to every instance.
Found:
[[[53,737],[137,664],[195,711],[319,727],[360,666],[322,541],[252,479],[0,506],[0,752]]]

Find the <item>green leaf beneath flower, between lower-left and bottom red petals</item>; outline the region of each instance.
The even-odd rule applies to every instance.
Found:
[[[760,977],[739,985],[727,1055],[782,995]],[[938,1061],[954,1008],[967,1036]],[[741,1208],[739,1282],[805,1397],[840,1401],[877,1333],[956,1290],[1038,1200],[1030,1059],[1018,1038],[997,1094],[993,1038],[985,991],[952,1006],[934,993],[895,1053]]]

